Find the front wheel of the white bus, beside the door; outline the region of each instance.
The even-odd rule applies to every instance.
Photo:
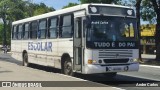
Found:
[[[65,75],[73,76],[72,62],[69,57],[66,57],[62,63],[62,73]]]

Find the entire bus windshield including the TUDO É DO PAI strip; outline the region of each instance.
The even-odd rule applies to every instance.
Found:
[[[97,49],[137,48],[137,33],[135,18],[91,16],[86,45]]]

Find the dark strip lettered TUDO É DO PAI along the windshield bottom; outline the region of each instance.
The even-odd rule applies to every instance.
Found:
[[[87,47],[95,49],[104,49],[104,48],[118,48],[118,49],[134,49],[137,48],[137,42],[133,41],[116,41],[116,42],[87,42]]]

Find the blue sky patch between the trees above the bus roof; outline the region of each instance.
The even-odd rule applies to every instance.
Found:
[[[63,6],[68,5],[69,2],[72,3],[80,3],[78,0],[31,0],[33,3],[45,3],[49,7],[53,7],[54,9],[58,10],[61,9]]]

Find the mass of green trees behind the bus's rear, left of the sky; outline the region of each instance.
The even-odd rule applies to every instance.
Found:
[[[26,0],[0,0],[0,18],[3,22],[3,45],[10,43],[11,24],[26,17],[54,11],[44,3],[33,4]]]

